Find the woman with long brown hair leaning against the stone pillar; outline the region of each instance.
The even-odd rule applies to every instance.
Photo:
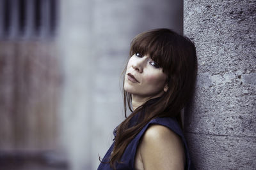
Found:
[[[138,34],[124,74],[124,108],[98,169],[193,169],[180,111],[193,94],[195,45],[170,29]]]

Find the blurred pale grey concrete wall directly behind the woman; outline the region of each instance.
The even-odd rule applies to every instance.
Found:
[[[124,119],[120,79],[131,39],[158,27],[182,32],[182,1],[61,1],[60,140],[71,169],[99,166]]]

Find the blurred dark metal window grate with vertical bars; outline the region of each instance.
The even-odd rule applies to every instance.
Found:
[[[58,0],[0,0],[0,38],[52,38]]]

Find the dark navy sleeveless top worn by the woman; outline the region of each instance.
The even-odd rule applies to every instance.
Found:
[[[136,118],[136,116],[135,116],[135,118]],[[131,122],[131,124],[134,124],[134,122]],[[116,163],[116,170],[135,169],[134,162],[135,162],[136,150],[138,148],[140,139],[143,136],[143,134],[145,133],[145,131],[147,131],[147,128],[149,127],[149,125],[152,125],[152,124],[158,124],[158,125],[163,125],[165,127],[168,127],[170,130],[172,130],[173,132],[175,132],[176,134],[178,134],[180,136],[180,138],[182,139],[182,141],[184,143],[184,152],[186,155],[186,165],[185,165],[184,169],[188,169],[188,170],[195,169],[193,167],[193,164],[191,164],[191,159],[189,157],[188,145],[186,143],[186,139],[184,138],[184,134],[183,134],[182,129],[180,128],[180,125],[178,124],[176,118],[163,117],[163,118],[154,118],[154,119],[150,120],[150,122],[148,122],[148,124],[145,125],[143,127],[143,129],[141,129],[141,131],[135,136],[135,138],[132,139],[132,141],[125,148],[125,151],[122,155],[122,158],[120,160],[120,162],[122,162],[122,163]],[[114,130],[114,136],[116,136],[116,129]],[[106,155],[104,156],[104,158],[102,159],[102,162],[100,162],[98,170],[112,169],[110,167],[109,163],[104,163],[104,162],[109,162],[109,157],[111,155],[111,152],[113,151],[113,147],[115,144],[115,138],[113,140],[114,140],[114,142],[110,146],[110,148],[109,148],[108,152],[106,153]]]

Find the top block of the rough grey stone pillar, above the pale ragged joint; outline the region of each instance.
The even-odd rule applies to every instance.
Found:
[[[255,14],[255,1],[184,1],[184,34],[204,56],[200,73],[255,71]]]

